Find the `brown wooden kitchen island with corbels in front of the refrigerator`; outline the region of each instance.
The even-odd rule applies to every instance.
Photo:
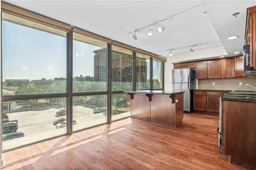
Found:
[[[131,117],[177,127],[183,119],[183,91],[124,91],[131,99]]]

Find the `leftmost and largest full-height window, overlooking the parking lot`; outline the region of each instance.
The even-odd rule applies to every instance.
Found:
[[[66,134],[66,51],[66,32],[2,13],[3,150]]]

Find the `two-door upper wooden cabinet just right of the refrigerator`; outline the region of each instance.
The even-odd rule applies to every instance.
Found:
[[[196,79],[221,78],[221,61],[196,62]]]

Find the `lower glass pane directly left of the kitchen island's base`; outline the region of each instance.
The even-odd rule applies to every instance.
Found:
[[[111,95],[112,121],[131,116],[130,96],[126,93]]]

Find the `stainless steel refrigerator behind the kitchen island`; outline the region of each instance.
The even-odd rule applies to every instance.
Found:
[[[172,69],[172,91],[184,91],[184,113],[193,112],[193,89],[196,89],[196,69]]]

